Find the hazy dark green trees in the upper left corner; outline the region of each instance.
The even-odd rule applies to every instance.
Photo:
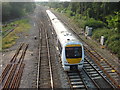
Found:
[[[35,9],[34,2],[3,2],[2,3],[2,22],[21,18]]]

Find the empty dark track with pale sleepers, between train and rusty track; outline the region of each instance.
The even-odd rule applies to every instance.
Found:
[[[100,70],[99,67],[87,57],[85,58],[83,71],[92,80],[92,82],[94,82],[94,85],[97,88],[114,88],[111,82],[106,79],[102,70]]]

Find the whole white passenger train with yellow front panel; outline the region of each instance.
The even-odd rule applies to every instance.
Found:
[[[46,10],[58,39],[64,71],[77,68],[81,70],[84,63],[84,48],[73,33],[50,11]]]

